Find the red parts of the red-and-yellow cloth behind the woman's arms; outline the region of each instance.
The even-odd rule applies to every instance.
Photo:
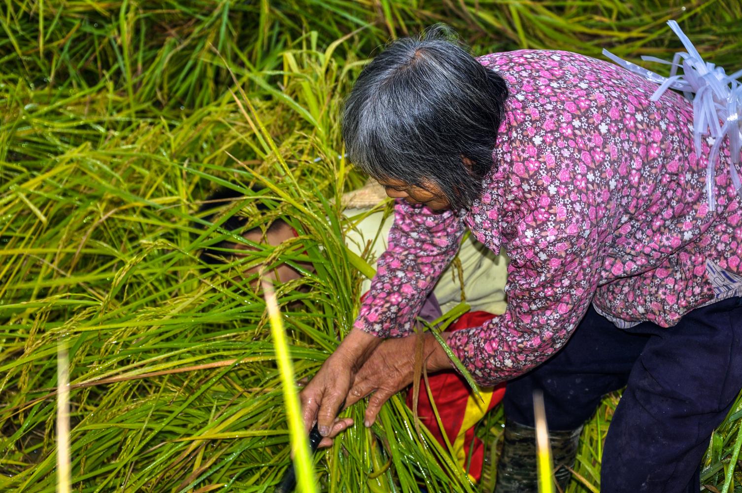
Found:
[[[479,327],[486,321],[493,319],[493,317],[495,315],[492,313],[482,311],[464,313],[464,315],[449,326],[448,331],[453,332],[470,327]],[[460,433],[465,433],[464,451],[466,452],[466,457],[471,457],[468,472],[476,481],[479,481],[482,476],[482,465],[485,460],[485,445],[482,443],[482,440],[474,436],[473,427],[468,430],[461,429],[470,395],[469,385],[464,380],[464,377],[455,370],[442,371],[428,376],[428,382],[430,383],[430,393],[436,402],[436,408],[441,417],[441,422],[443,423],[443,428],[449,442],[453,444]],[[445,447],[441,428],[439,428],[436,421],[436,414],[433,412],[433,406],[430,405],[430,399],[428,399],[427,390],[422,380],[420,382],[419,394],[418,416],[421,422],[430,430],[430,433],[436,437],[436,440]],[[503,394],[505,394],[505,384],[500,384],[493,391],[487,411],[502,401]],[[407,406],[410,409],[413,407],[412,387],[407,391]],[[472,447],[473,451],[470,454],[470,448]]]

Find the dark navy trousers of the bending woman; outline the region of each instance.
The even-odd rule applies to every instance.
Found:
[[[697,308],[669,328],[622,330],[590,307],[562,350],[508,382],[505,416],[533,425],[540,389],[549,428],[571,430],[623,387],[600,491],[697,493],[709,437],[742,388],[742,298]]]

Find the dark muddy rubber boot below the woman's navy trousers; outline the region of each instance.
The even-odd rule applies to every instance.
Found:
[[[577,444],[580,442],[582,426],[576,430],[549,431],[551,457],[554,459],[554,476],[562,492],[565,491],[577,457]],[[505,441],[502,454],[497,463],[495,493],[536,493],[536,429],[505,422]]]

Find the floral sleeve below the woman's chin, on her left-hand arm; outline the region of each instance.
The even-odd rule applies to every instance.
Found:
[[[378,259],[354,327],[378,337],[409,334],[425,298],[456,255],[463,233],[459,215],[397,200],[387,251]]]

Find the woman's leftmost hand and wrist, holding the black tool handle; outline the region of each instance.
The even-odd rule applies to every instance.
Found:
[[[335,417],[343,402],[347,402],[356,373],[380,342],[378,337],[353,329],[326,359],[322,368],[299,394],[306,431],[316,421],[320,434],[330,439],[352,424],[349,418],[337,421]],[[320,445],[326,446],[329,443],[331,442],[322,440]]]

